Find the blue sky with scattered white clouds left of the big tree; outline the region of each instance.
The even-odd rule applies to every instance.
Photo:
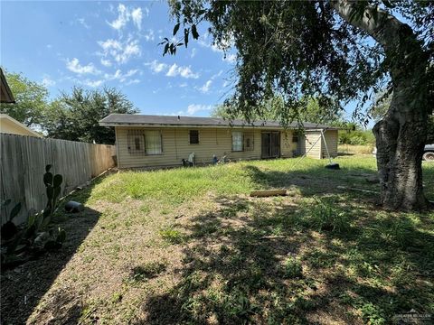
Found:
[[[231,91],[233,52],[199,42],[162,56],[172,35],[166,2],[2,2],[1,64],[43,83],[117,87],[143,114],[208,116]],[[19,14],[18,14],[19,13]]]

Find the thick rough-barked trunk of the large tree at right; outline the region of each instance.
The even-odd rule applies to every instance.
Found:
[[[391,14],[354,1],[332,2],[347,22],[379,42],[390,62],[393,85],[391,106],[373,128],[377,145],[377,168],[386,209],[427,209],[422,187],[422,149],[427,139],[428,88],[424,79],[428,57],[410,26]],[[357,17],[357,18],[355,18]]]

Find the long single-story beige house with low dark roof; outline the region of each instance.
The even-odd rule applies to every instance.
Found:
[[[119,168],[179,166],[191,153],[199,164],[212,163],[213,155],[238,161],[337,154],[337,128],[312,123],[304,134],[296,124],[215,117],[111,114],[99,125],[115,127]]]

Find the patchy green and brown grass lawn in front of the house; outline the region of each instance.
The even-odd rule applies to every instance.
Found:
[[[382,210],[369,155],[117,172],[2,274],[3,323],[383,324],[434,314],[434,213]],[[434,200],[434,163],[424,163]],[[284,188],[288,196],[250,198]],[[428,322],[427,322],[428,323]]]

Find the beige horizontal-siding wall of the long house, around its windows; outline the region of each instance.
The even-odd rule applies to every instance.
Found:
[[[212,163],[212,155],[219,159],[226,154],[231,160],[260,159],[261,130],[246,128],[161,128],[163,153],[145,155],[128,152],[128,130],[155,130],[156,128],[117,126],[117,153],[119,168],[175,166],[187,159],[190,153],[195,154],[196,163]],[[199,144],[190,144],[189,131],[199,130]],[[253,135],[253,150],[231,152],[232,131],[243,131]],[[292,131],[280,133],[280,151],[282,157],[292,157],[297,144],[292,143]]]

